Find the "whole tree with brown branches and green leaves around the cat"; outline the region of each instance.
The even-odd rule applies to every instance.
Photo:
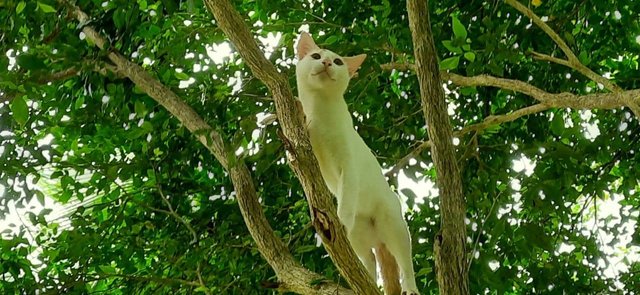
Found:
[[[378,292],[295,115],[302,25],[368,54],[390,181],[439,187],[400,190],[423,294],[637,288],[640,3],[458,2],[3,2],[0,210],[83,203],[3,235],[0,290]]]

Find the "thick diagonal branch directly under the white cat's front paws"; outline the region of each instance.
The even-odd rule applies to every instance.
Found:
[[[229,37],[254,76],[269,88],[276,113],[282,124],[283,141],[290,165],[304,188],[311,218],[334,264],[357,294],[379,294],[373,280],[351,249],[344,227],[339,222],[333,197],[320,174],[311,144],[303,128],[301,110],[296,106],[289,82],[278,72],[258,47],[249,27],[229,0],[205,0],[217,25]],[[276,273],[278,271],[276,270]]]

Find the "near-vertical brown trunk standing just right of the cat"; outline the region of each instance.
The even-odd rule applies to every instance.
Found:
[[[469,294],[464,223],[466,208],[431,33],[428,2],[408,0],[407,11],[416,60],[416,75],[420,83],[422,110],[432,143],[431,155],[440,191],[441,229],[434,244],[438,286],[440,294]]]

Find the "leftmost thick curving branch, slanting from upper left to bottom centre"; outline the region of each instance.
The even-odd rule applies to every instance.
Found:
[[[86,24],[88,16],[79,7],[71,5],[66,0],[59,3],[69,8],[74,17]],[[84,26],[82,31],[86,38],[101,49],[105,48],[106,39],[91,26]],[[240,211],[251,236],[255,240],[258,250],[267,260],[281,280],[280,289],[302,294],[351,294],[334,283],[312,285],[312,282],[322,279],[322,276],[300,266],[284,243],[275,235],[269,225],[254,187],[253,179],[247,166],[227,151],[222,136],[213,130],[189,105],[187,105],[171,89],[153,78],[139,65],[130,62],[121,54],[111,51],[107,54],[109,60],[117,67],[117,72],[125,75],[140,89],[145,91],[160,105],[173,114],[194,136],[205,146],[220,164],[229,172],[236,190]]]

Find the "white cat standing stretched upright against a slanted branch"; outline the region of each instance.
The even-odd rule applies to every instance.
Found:
[[[401,284],[402,294],[418,295],[411,238],[400,201],[389,188],[375,156],[353,128],[343,98],[366,55],[341,57],[320,49],[307,33],[300,36],[297,50],[298,96],[311,146],[322,177],[338,200],[338,217],[351,246],[374,281],[378,260],[385,293],[399,294]]]

